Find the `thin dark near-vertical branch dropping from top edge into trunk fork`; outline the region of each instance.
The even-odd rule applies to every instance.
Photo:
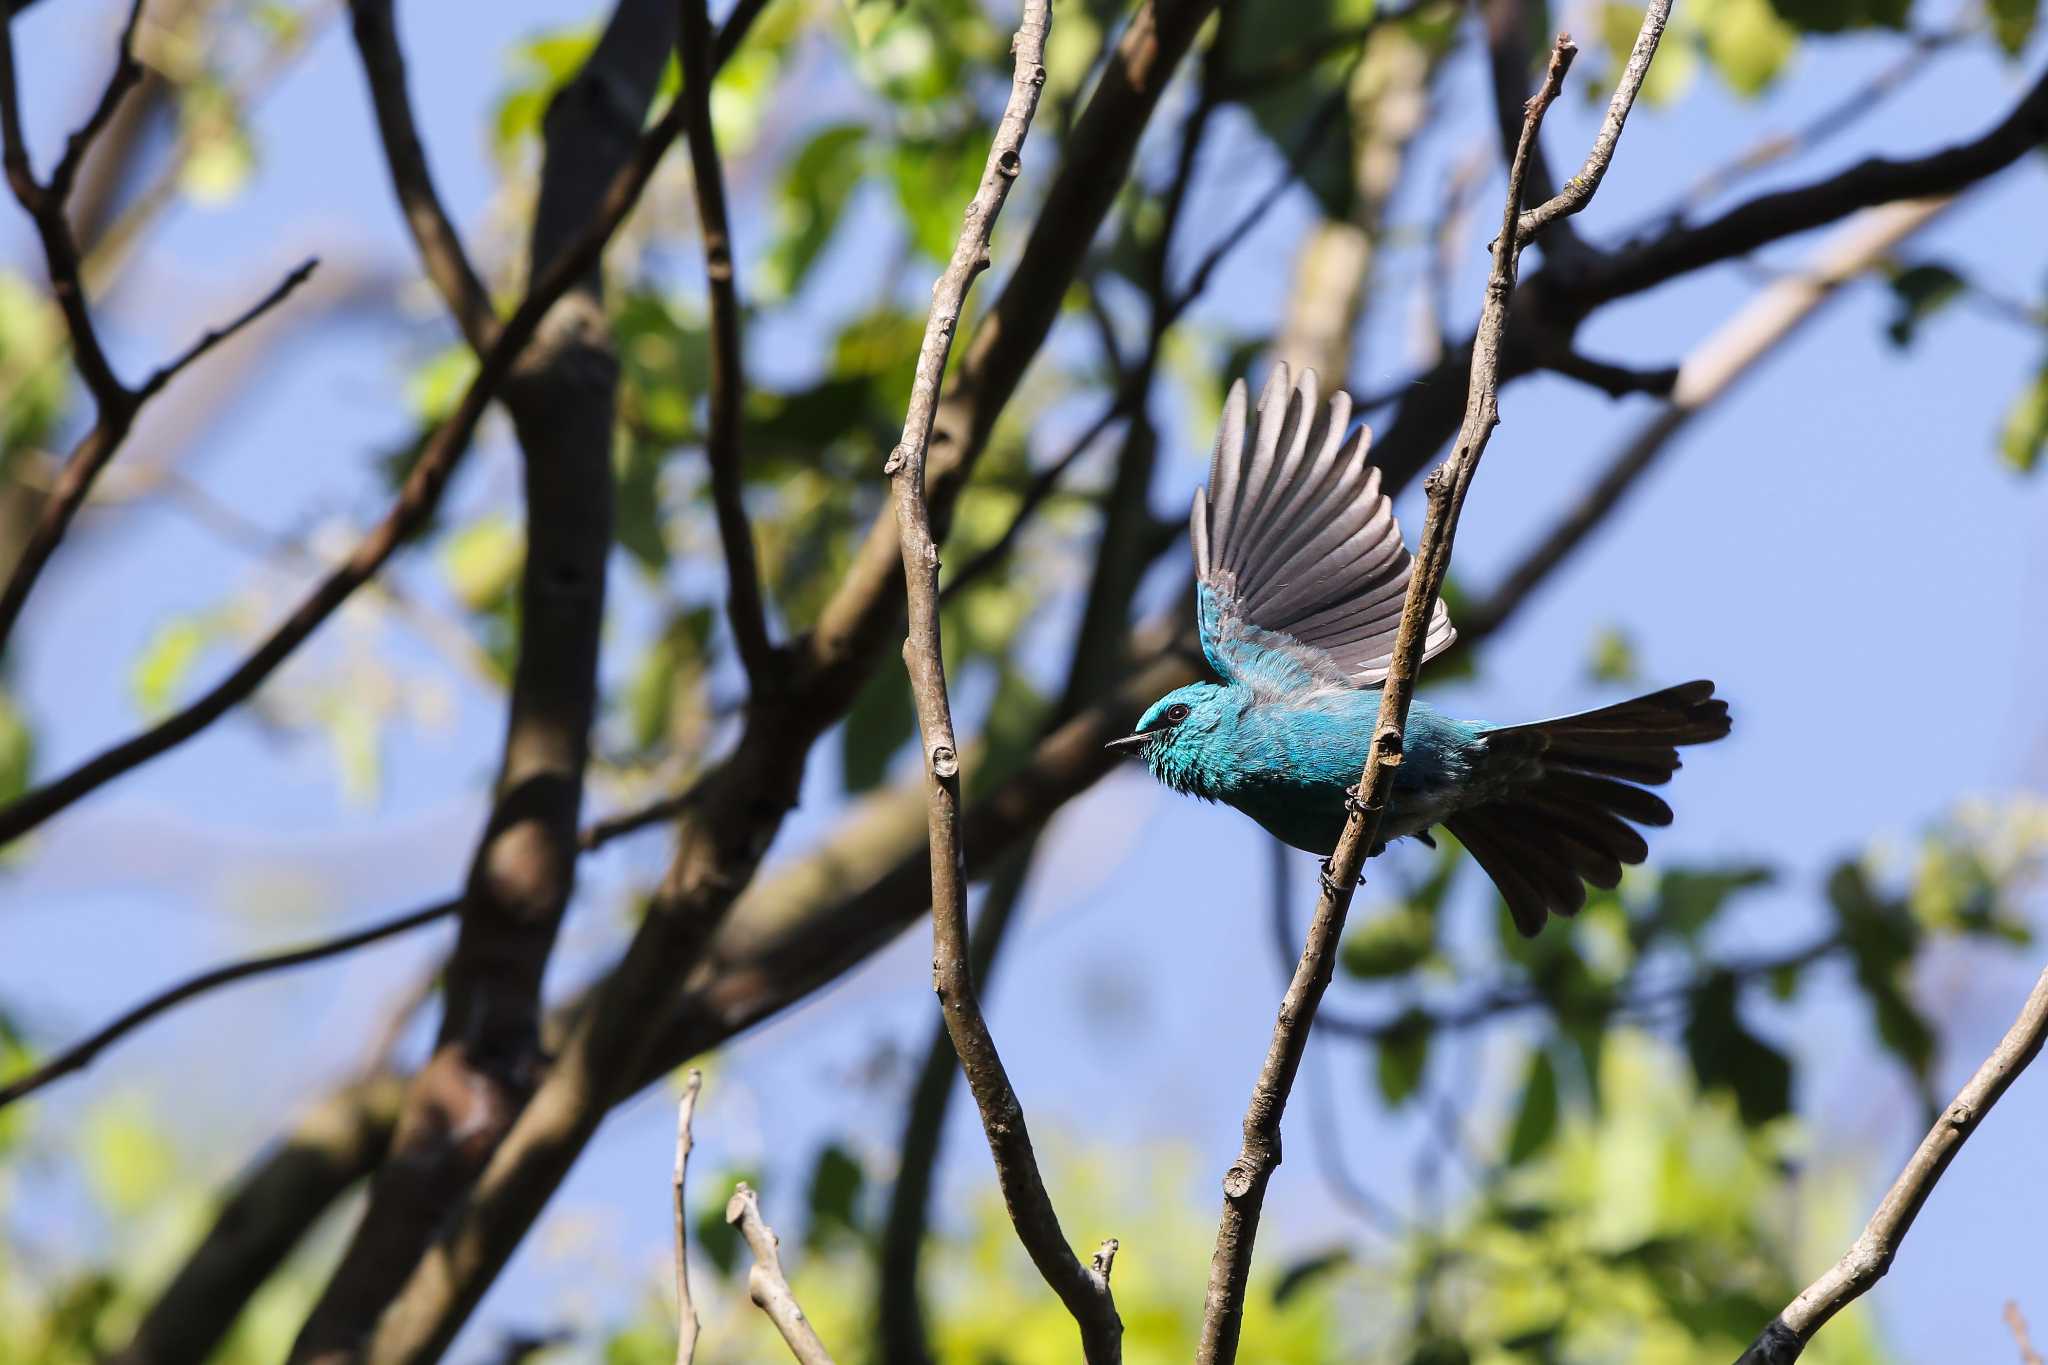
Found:
[[[690,143],[696,219],[705,237],[705,287],[711,295],[711,430],[705,434],[705,463],[711,467],[711,503],[719,518],[719,540],[725,544],[725,616],[748,681],[762,690],[778,686],[784,669],[778,667],[776,647],[768,639],[754,526],[748,522],[743,501],[739,407],[745,379],[739,350],[739,282],[733,270],[733,229],[725,213],[725,168],[719,164],[719,141],[711,123],[713,51],[707,0],[684,2],[680,51],[684,137]]]

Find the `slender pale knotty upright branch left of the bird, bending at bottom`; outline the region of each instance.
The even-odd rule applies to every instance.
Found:
[[[1012,51],[1016,76],[1010,102],[989,147],[981,186],[967,207],[967,221],[952,246],[952,260],[932,287],[932,313],[918,352],[903,440],[889,454],[885,473],[895,483],[903,581],[909,596],[909,636],[903,663],[918,704],[918,733],[926,759],[928,831],[932,845],[932,988],[938,993],[946,1031],[961,1058],[981,1124],[995,1158],[995,1175],[1018,1240],[1044,1281],[1059,1293],[1081,1328],[1081,1349],[1092,1365],[1120,1359],[1122,1324],[1110,1297],[1108,1275],[1083,1267],[1059,1228],[1032,1154],[1024,1107],[1018,1103],[987,1019],[975,999],[967,941],[967,866],[961,851],[961,757],[946,696],[946,665],[938,626],[938,544],[926,505],[926,452],[938,411],[938,385],[961,321],[967,289],[989,266],[989,235],[1010,184],[1022,170],[1024,135],[1030,131],[1038,92],[1044,88],[1044,41],[1053,14],[1049,0],[1026,0]]]

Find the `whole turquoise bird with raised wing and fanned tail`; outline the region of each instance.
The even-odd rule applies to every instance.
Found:
[[[1372,745],[1411,559],[1366,463],[1370,436],[1348,432],[1350,397],[1319,407],[1313,370],[1290,389],[1274,366],[1245,446],[1245,385],[1231,387],[1192,516],[1202,653],[1223,681],[1165,694],[1110,747],[1329,857]],[[1423,659],[1454,636],[1436,602]],[[1534,935],[1577,913],[1587,882],[1612,888],[1649,855],[1634,827],[1669,825],[1671,806],[1642,788],[1669,782],[1679,745],[1726,733],[1710,681],[1532,724],[1415,702],[1372,851],[1442,825]]]

